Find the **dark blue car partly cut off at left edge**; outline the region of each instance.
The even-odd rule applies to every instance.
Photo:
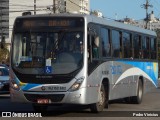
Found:
[[[0,94],[9,93],[9,69],[0,66]]]

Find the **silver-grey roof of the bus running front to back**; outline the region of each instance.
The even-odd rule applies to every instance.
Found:
[[[17,18],[34,18],[34,17],[84,17],[87,23],[96,23],[109,26],[115,29],[123,29],[131,32],[143,33],[151,36],[157,36],[155,31],[148,29],[143,29],[134,25],[124,24],[114,20],[106,20],[105,18],[100,18],[95,15],[85,15],[85,14],[70,14],[70,13],[60,13],[60,14],[38,14],[38,15],[27,15],[20,16]]]

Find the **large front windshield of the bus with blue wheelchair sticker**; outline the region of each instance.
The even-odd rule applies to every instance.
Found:
[[[13,35],[13,69],[23,74],[69,74],[83,65],[83,31],[54,28]]]

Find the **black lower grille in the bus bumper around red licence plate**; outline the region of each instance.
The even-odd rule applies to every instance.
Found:
[[[52,102],[61,102],[64,98],[64,94],[52,94],[52,95],[41,95],[41,94],[24,94],[27,100],[31,102],[37,102],[37,99],[50,99]]]

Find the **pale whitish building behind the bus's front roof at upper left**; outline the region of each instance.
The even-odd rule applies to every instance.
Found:
[[[36,2],[36,14],[50,13],[47,7],[53,6],[53,0],[9,0],[9,41],[11,40],[15,18],[22,16],[22,13],[27,11],[34,14],[34,2]]]

